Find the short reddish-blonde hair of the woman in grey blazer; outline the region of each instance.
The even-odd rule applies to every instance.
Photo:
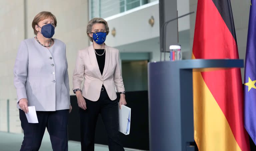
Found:
[[[56,17],[51,13],[51,12],[40,12],[38,13],[35,18],[33,19],[33,22],[32,22],[32,28],[34,30],[34,34],[37,35],[37,31],[36,31],[36,28],[35,26],[38,25],[38,23],[44,19],[47,19],[47,18],[52,18],[54,20],[54,25],[55,27],[57,26],[57,19]]]

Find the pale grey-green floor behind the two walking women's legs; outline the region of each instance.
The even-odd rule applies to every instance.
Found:
[[[0,151],[19,151],[23,140],[23,134],[0,132]],[[80,142],[69,141],[69,151],[81,151]],[[39,151],[51,151],[50,136],[45,133]],[[108,146],[95,144],[95,151],[108,151]],[[125,149],[125,151],[139,151],[135,149]]]

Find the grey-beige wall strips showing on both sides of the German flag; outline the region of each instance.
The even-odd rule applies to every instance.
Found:
[[[246,41],[249,21],[250,0],[231,0],[233,18],[236,30],[239,58],[245,59]],[[196,12],[197,0],[190,0],[190,11]],[[190,16],[190,46],[192,52],[196,13]],[[244,68],[241,69],[242,81],[244,80]]]

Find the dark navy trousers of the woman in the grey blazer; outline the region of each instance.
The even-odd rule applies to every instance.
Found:
[[[24,139],[20,151],[38,151],[45,128],[50,135],[53,151],[68,150],[68,114],[69,110],[37,111],[38,123],[28,123],[25,113],[20,112]]]

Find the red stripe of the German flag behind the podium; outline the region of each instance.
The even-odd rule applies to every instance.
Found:
[[[236,41],[212,0],[199,0],[197,8],[193,43],[195,58],[239,58]],[[249,150],[248,135],[243,126],[243,91],[240,69],[202,72],[202,76],[227,118],[241,150]]]

